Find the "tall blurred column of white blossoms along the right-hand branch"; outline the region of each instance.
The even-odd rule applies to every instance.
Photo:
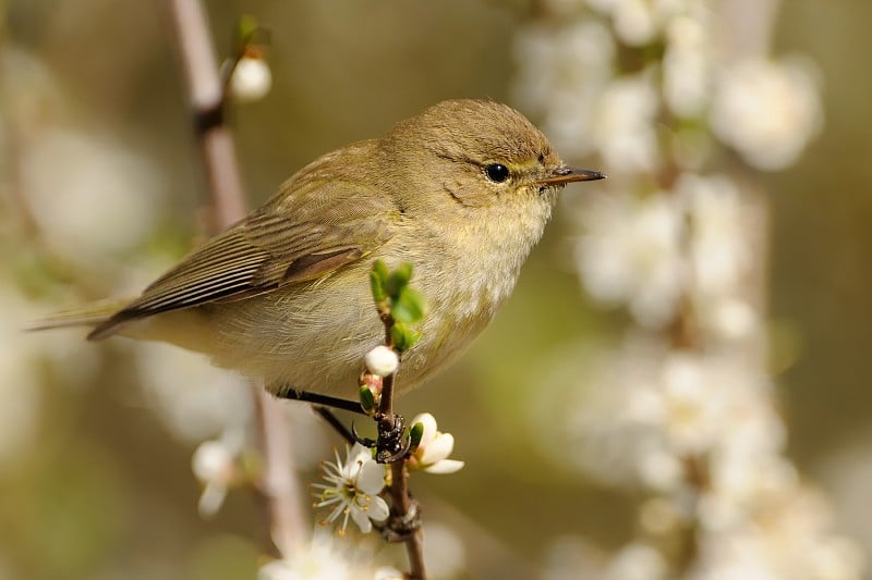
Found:
[[[644,332],[616,351],[586,346],[549,361],[536,378],[559,396],[542,397],[535,433],[562,466],[647,490],[639,525],[653,541],[629,543],[605,567],[573,557],[576,570],[549,578],[578,568],[671,578],[662,546],[692,525],[685,580],[856,580],[857,544],[834,533],[826,502],[784,457],[759,351],[755,200],[700,173],[720,145],[759,169],[794,163],[821,125],[814,75],[797,59],[727,61],[706,0],[582,3],[598,16],[584,28],[570,2],[543,4],[555,12],[517,45],[534,49],[519,50],[516,92],[565,155],[598,155],[621,176],[578,205],[577,269],[594,298],[626,305]],[[654,44],[662,62],[646,53]],[[621,69],[617,46],[641,62]]]

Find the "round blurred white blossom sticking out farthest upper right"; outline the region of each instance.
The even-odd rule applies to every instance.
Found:
[[[755,168],[791,165],[822,116],[815,77],[798,59],[746,59],[718,75],[712,129]]]

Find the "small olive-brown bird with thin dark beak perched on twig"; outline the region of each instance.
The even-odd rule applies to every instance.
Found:
[[[508,106],[444,101],[382,138],[313,161],[120,309],[90,308],[38,328],[89,324],[94,341],[171,343],[279,396],[353,396],[364,355],[384,341],[368,271],[377,259],[389,268],[411,262],[428,309],[421,341],[403,354],[402,392],[493,319],[558,190],[603,177],[564,164]]]

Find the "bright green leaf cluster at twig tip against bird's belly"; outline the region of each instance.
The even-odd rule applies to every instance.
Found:
[[[421,322],[426,313],[424,296],[409,286],[412,264],[404,262],[388,270],[385,262],[376,260],[370,271],[373,299],[379,316],[389,320],[390,341],[398,353],[408,350],[421,340],[421,333],[412,324]]]

